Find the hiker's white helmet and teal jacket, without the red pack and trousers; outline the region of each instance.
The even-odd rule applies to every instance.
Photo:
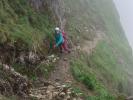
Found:
[[[54,48],[59,47],[62,52],[62,44],[64,42],[64,38],[62,32],[60,31],[59,27],[55,28],[55,42]]]

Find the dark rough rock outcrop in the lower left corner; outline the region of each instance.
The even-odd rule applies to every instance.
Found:
[[[26,97],[31,86],[28,79],[8,65],[0,64],[0,66],[2,66],[1,71],[3,71],[3,76],[6,76],[5,78],[7,78],[6,80],[0,79],[0,94],[17,94]]]

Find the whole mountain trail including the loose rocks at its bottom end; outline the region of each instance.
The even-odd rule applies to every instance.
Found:
[[[103,34],[101,31],[97,31],[97,36],[94,38],[93,41],[85,41],[84,45],[77,46],[73,48],[73,51],[70,54],[61,54],[60,60],[55,65],[55,69],[51,72],[49,78],[48,78],[48,86],[43,85],[39,88],[35,88],[31,90],[31,96],[37,98],[37,100],[69,100],[67,93],[63,92],[64,85],[65,84],[71,84],[74,87],[78,87],[81,91],[86,93],[87,95],[94,95],[91,91],[89,91],[82,83],[77,82],[71,73],[70,68],[70,56],[74,56],[75,52],[78,50],[87,52],[87,54],[91,54],[93,49],[97,46],[98,42],[102,39]],[[79,48],[80,47],[80,48]],[[54,85],[53,85],[54,84]],[[58,89],[62,89],[61,92],[58,91]],[[57,90],[56,90],[57,89]],[[51,91],[53,94],[51,94]],[[68,89],[68,91],[70,91]],[[72,91],[71,91],[72,92]],[[56,95],[58,94],[58,96]],[[60,95],[64,94],[64,98],[62,99],[52,99],[56,95],[56,97],[61,97]],[[69,95],[70,96],[70,95]],[[68,98],[68,99],[66,99]],[[72,97],[73,98],[73,97]],[[73,99],[71,99],[73,100]],[[74,100],[83,100],[81,98],[74,99]]]

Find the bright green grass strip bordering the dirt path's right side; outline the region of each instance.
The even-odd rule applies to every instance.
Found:
[[[71,62],[71,70],[77,81],[83,83],[86,88],[96,94],[96,96],[86,96],[87,100],[115,100],[115,97],[104,87],[102,82],[97,80],[95,73],[89,68],[85,58],[74,59]]]

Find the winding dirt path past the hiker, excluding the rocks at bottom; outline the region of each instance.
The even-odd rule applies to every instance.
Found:
[[[88,54],[90,54],[93,49],[96,47],[97,43],[102,39],[102,32],[101,31],[97,31],[97,36],[94,38],[93,41],[85,41],[83,46],[80,46],[82,49],[82,51],[87,52]],[[79,47],[75,47],[75,51],[77,51],[77,49],[79,49]],[[75,52],[74,51],[74,52]],[[74,86],[79,87],[81,90],[88,92],[89,95],[91,95],[91,93],[88,91],[88,89],[86,89],[86,87],[75,81],[75,79],[72,76],[72,73],[70,71],[70,62],[69,62],[69,56],[74,55],[74,53],[72,52],[71,54],[63,54],[61,55],[60,61],[58,62],[58,64],[56,65],[54,71],[51,73],[50,77],[49,77],[49,81],[52,82],[59,82],[59,83],[71,83]]]

